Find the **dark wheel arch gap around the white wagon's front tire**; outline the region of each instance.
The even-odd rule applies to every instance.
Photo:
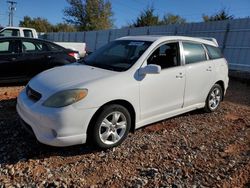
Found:
[[[87,140],[89,140],[89,136],[90,135],[90,132],[92,131],[92,128],[93,128],[93,124],[95,123],[98,115],[103,111],[103,108],[107,105],[112,105],[112,104],[117,104],[117,105],[121,105],[123,107],[125,107],[129,114],[131,115],[131,128],[130,128],[130,132],[134,132],[135,131],[135,120],[136,120],[136,112],[135,112],[135,109],[133,107],[133,105],[126,101],[126,100],[122,100],[122,99],[119,99],[119,100],[113,100],[113,101],[110,101],[110,102],[107,102],[105,104],[103,104],[95,113],[94,115],[92,116],[89,124],[88,124],[88,128],[87,128]]]

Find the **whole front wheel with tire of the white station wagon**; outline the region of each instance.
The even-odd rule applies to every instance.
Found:
[[[108,149],[121,144],[131,127],[128,110],[121,105],[108,105],[99,114],[92,131],[96,146]]]

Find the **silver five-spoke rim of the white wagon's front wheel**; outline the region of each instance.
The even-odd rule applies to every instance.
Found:
[[[107,115],[99,128],[99,137],[107,145],[112,145],[122,139],[126,132],[127,119],[121,112]]]

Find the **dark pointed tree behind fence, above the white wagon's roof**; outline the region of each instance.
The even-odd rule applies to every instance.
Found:
[[[143,10],[139,17],[131,25],[132,27],[145,27],[158,25],[160,23],[159,16],[154,13],[154,8],[149,7]]]

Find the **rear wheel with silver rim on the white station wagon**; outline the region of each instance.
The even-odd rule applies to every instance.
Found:
[[[223,92],[221,86],[219,84],[215,84],[208,93],[204,110],[206,112],[215,111],[219,107],[222,97]]]

